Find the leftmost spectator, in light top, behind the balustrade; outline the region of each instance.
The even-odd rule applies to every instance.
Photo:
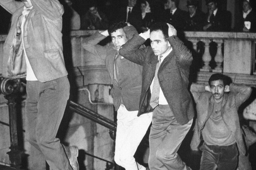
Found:
[[[65,0],[65,3],[69,6],[72,16],[70,18],[70,29],[78,30],[80,29],[80,15],[72,8],[72,1]]]

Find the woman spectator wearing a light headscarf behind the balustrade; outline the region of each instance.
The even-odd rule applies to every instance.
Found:
[[[150,25],[154,22],[148,1],[141,1],[140,9],[142,16],[142,27],[140,28],[140,32],[146,32],[148,31]]]

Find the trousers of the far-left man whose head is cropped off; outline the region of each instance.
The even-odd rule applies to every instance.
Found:
[[[37,148],[54,170],[68,170],[69,160],[56,138],[67,100],[67,77],[41,83],[27,81],[26,139]]]

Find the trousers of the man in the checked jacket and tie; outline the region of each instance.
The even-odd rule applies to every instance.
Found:
[[[187,135],[193,119],[180,125],[169,105],[158,105],[153,110],[149,134],[150,170],[190,170],[177,154],[181,142]]]

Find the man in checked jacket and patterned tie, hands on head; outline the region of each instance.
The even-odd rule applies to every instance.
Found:
[[[148,38],[151,47],[139,49]],[[143,66],[138,115],[154,109],[149,135],[149,168],[190,169],[177,154],[194,117],[187,89],[192,62],[190,51],[176,36],[172,25],[158,22],[149,31],[135,34],[120,48],[119,53]],[[150,103],[145,99],[149,99]]]

